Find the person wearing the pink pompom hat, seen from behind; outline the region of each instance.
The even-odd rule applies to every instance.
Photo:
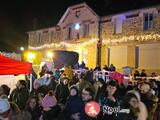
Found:
[[[56,120],[60,112],[60,107],[57,105],[57,99],[53,91],[48,92],[41,104],[43,107],[43,120]]]

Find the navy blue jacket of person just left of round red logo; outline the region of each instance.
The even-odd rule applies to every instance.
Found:
[[[80,113],[80,120],[85,120],[83,101],[78,96],[70,96],[67,100],[65,107],[65,118],[66,120],[72,120],[71,115]]]

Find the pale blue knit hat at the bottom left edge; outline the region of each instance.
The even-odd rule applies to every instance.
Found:
[[[0,99],[0,114],[7,112],[10,109],[10,104],[7,99]]]

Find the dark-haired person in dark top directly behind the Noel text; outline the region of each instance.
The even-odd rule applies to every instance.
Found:
[[[98,102],[100,104],[99,120],[117,120],[117,113],[110,112],[107,108],[117,108],[118,100],[115,96],[117,90],[117,83],[115,81],[109,81],[106,86],[106,95],[100,96]]]

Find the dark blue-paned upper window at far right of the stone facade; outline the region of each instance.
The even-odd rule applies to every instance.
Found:
[[[143,29],[148,30],[153,27],[153,14],[152,13],[144,13],[144,24]]]

